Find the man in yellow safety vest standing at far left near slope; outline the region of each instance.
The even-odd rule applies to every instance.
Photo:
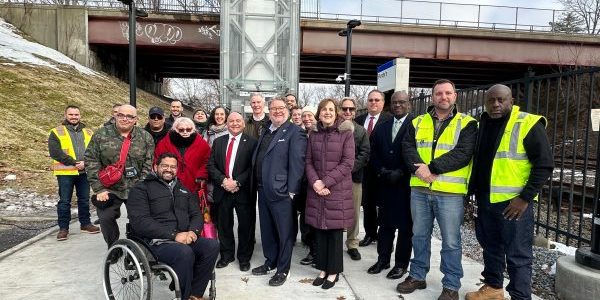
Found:
[[[100,228],[90,222],[90,185],[85,172],[83,155],[92,137],[92,131],[80,122],[79,107],[67,106],[62,125],[53,128],[48,136],[48,151],[53,159],[52,170],[58,180],[58,235],[64,241],[69,236],[71,197],[77,194],[77,215],[81,232],[99,233]]]

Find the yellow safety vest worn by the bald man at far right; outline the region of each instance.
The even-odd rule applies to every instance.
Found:
[[[508,201],[521,194],[531,171],[531,162],[525,152],[523,140],[540,119],[544,120],[544,126],[547,124],[546,118],[519,109],[513,105],[492,162],[491,203]],[[537,198],[536,196],[535,200]]]

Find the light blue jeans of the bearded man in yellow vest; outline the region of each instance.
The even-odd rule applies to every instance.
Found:
[[[461,264],[462,245],[460,225],[463,221],[463,196],[429,195],[413,189],[410,195],[410,212],[413,218],[413,259],[410,261],[410,276],[425,280],[429,272],[431,257],[431,231],[433,219],[437,219],[442,232],[442,262],[440,271],[444,274],[442,285],[458,291],[463,277]]]

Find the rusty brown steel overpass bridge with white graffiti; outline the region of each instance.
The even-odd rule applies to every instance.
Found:
[[[18,9],[23,7],[10,9],[10,14],[6,8],[2,10],[2,16],[12,22],[11,14],[13,19],[18,19]],[[59,12],[54,13],[55,20],[51,16],[47,23],[56,23],[55,35],[59,41],[54,48],[61,48],[60,36],[79,24],[80,27],[72,30],[77,34],[63,43],[69,50],[75,41],[75,46],[87,49],[81,53],[93,53],[94,58],[59,51],[87,65],[92,60],[99,61],[105,68],[112,68],[111,73],[127,77],[125,11],[82,7],[53,9]],[[63,12],[63,15],[77,14],[77,17],[61,19],[60,11],[67,9],[69,13]],[[345,28],[345,23],[301,19],[301,82],[335,83],[337,75],[344,72],[346,40],[337,32]],[[51,26],[36,32],[33,25],[30,24],[31,29],[26,32],[35,39],[43,40],[52,35]],[[144,76],[154,82],[161,82],[163,78],[219,76],[218,14],[150,14],[148,18],[138,19],[137,43],[138,66]],[[519,78],[528,69],[544,74],[562,65],[598,66],[599,53],[600,39],[595,36],[364,22],[353,31],[352,83],[375,85],[376,67],[396,57],[411,59],[411,87],[429,87],[437,78],[450,78],[459,87],[468,87]]]

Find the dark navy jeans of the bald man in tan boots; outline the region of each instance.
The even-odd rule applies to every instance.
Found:
[[[476,195],[476,199],[475,232],[483,248],[485,283],[502,288],[506,267],[510,278],[506,291],[511,299],[531,299],[533,203],[518,221],[510,221],[502,215],[510,201],[490,203],[489,195]]]

